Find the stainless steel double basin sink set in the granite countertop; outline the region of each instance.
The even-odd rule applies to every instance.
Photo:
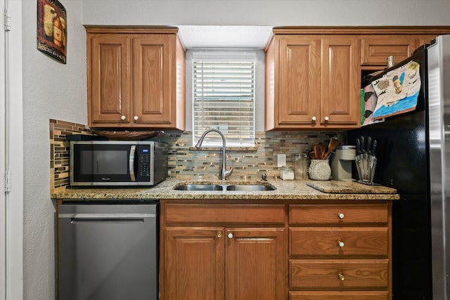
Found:
[[[245,191],[245,192],[260,192],[264,190],[276,190],[274,185],[270,184],[179,184],[174,187],[174,190],[221,190],[221,191]]]

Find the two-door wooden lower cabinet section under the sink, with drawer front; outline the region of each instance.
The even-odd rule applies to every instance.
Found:
[[[167,212],[165,219],[176,219],[179,223],[174,223],[177,226],[167,224],[163,230],[164,287],[161,299],[287,299],[288,231],[284,226],[285,217],[281,216],[278,226],[255,223],[261,215],[252,214],[252,205],[225,206],[218,204],[217,208],[209,207],[206,212],[195,204],[163,206]],[[193,207],[199,208],[198,215],[195,211],[184,214]],[[253,208],[259,212],[280,208],[285,211],[283,205]],[[187,225],[218,216],[221,209],[231,209],[236,214],[219,216],[224,219],[220,224]],[[243,223],[227,222],[244,211],[250,218]]]

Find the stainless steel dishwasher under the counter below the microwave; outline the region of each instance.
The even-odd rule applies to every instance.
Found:
[[[157,300],[158,203],[60,204],[58,299]]]

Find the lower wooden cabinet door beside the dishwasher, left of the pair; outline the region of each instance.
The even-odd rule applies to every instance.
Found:
[[[224,300],[223,228],[165,229],[165,296]]]

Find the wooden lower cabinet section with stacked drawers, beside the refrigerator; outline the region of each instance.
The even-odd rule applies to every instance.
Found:
[[[289,207],[290,300],[391,299],[389,202]]]

